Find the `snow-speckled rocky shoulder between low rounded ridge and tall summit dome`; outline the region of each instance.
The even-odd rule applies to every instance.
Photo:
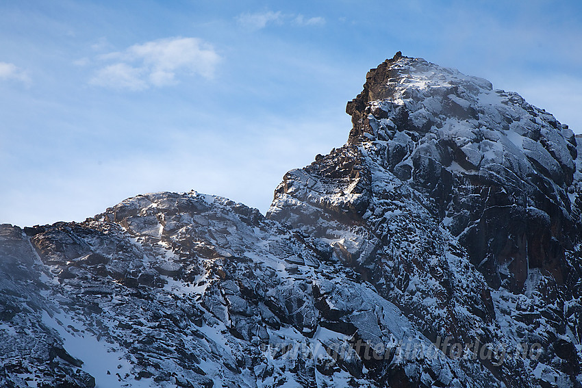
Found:
[[[470,336],[475,320],[494,318],[490,295],[481,293],[483,276],[466,265],[466,253],[433,220],[429,204],[374,162],[376,151],[345,146],[288,172],[268,216],[327,241],[335,259],[355,268],[429,337]],[[423,304],[425,298],[435,304]],[[470,313],[459,315],[457,303]]]

